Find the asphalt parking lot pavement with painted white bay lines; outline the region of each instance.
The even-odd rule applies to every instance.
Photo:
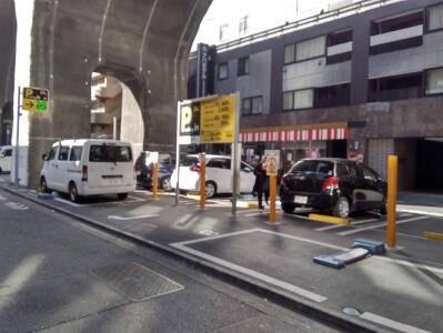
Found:
[[[356,319],[379,327],[403,332],[443,330],[439,317],[443,311],[442,242],[421,235],[424,229],[441,230],[441,218],[399,213],[396,249],[338,271],[314,264],[313,256],[349,249],[356,238],[383,241],[385,216],[362,214],[349,225],[333,225],[311,221],[305,214],[280,213],[279,223],[270,225],[266,211],[240,209],[233,216],[230,206],[214,204],[201,211],[198,202],[185,198],[175,206],[172,195],[153,200],[141,192],[133,196],[123,202],[101,199],[78,205],[63,200],[44,202],[173,248],[336,314],[351,306],[359,311]]]

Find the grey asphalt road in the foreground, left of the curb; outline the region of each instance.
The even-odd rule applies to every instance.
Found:
[[[0,190],[0,332],[338,332]]]

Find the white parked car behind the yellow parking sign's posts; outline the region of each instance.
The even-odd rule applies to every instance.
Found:
[[[179,189],[183,191],[198,191],[199,181],[199,155],[188,155],[180,163]],[[254,181],[253,168],[245,162],[241,162],[240,192],[252,192]],[[177,170],[172,173],[171,184],[173,188],[177,186]],[[208,154],[205,194],[208,198],[213,198],[217,193],[232,193],[231,157]]]

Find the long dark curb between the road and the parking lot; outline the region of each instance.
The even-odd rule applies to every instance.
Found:
[[[135,234],[119,230],[117,228],[107,225],[104,223],[94,221],[92,219],[88,219],[85,216],[79,215],[79,214],[68,211],[66,209],[51,205],[51,204],[47,203],[48,201],[39,200],[38,198],[32,198],[30,195],[20,193],[19,191],[14,191],[14,190],[6,188],[3,185],[0,185],[0,189],[4,190],[13,195],[20,196],[24,200],[28,200],[36,204],[44,206],[47,209],[50,209],[50,210],[57,211],[59,213],[62,213],[64,215],[68,215],[70,218],[73,218],[73,219],[75,219],[82,223],[85,223],[90,226],[93,226],[101,231],[111,233],[112,235],[123,238],[127,241],[152,249],[162,254],[169,255],[173,259],[184,261],[185,263],[190,264],[193,268],[197,268],[207,273],[211,273],[211,274],[222,279],[223,281],[234,283],[235,286],[242,287],[249,292],[254,293],[255,295],[259,295],[266,300],[273,301],[273,302],[278,303],[279,305],[283,305],[283,306],[294,310],[301,314],[309,315],[310,317],[312,317],[314,320],[320,320],[322,322],[332,324],[336,327],[344,329],[349,332],[361,332],[361,333],[389,332],[379,326],[374,326],[372,324],[365,323],[363,321],[358,321],[353,317],[346,316],[339,312],[334,312],[332,310],[319,306],[311,301],[304,300],[302,297],[298,297],[293,294],[286,293],[282,290],[274,287],[274,286],[270,286],[270,285],[265,284],[264,282],[250,280],[240,273],[218,266],[211,262],[197,259],[192,255],[189,255],[187,253],[178,251],[173,248],[160,244],[154,241],[145,240]]]

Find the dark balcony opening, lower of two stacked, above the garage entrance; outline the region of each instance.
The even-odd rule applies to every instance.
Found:
[[[422,95],[422,73],[370,80],[370,102],[417,99]]]

